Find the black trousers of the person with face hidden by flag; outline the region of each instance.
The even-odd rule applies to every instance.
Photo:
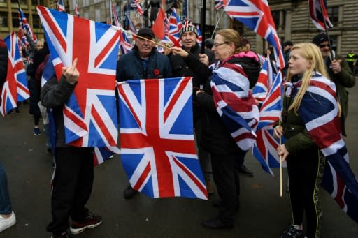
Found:
[[[55,152],[51,209],[52,222],[47,230],[60,234],[69,228],[69,217],[82,221],[93,185],[93,148],[57,147]]]

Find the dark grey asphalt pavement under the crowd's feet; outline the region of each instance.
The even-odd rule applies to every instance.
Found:
[[[8,187],[17,224],[0,233],[0,237],[50,237],[50,179],[52,156],[45,149],[45,135],[33,134],[34,120],[22,105],[20,114],[0,118],[0,161],[8,174]],[[358,87],[350,89],[350,108],[345,138],[350,165],[358,175]],[[42,121],[41,121],[42,128]],[[43,131],[42,131],[43,132]],[[241,209],[231,230],[202,228],[203,219],[212,218],[217,208],[210,200],[189,198],[153,199],[136,195],[123,198],[128,179],[120,156],[94,168],[94,186],[87,204],[94,214],[103,217],[98,228],[85,230],[74,237],[280,237],[291,218],[289,197],[280,198],[277,177],[262,170],[250,153],[245,161],[254,177],[241,179]],[[284,188],[287,170],[283,170]],[[348,217],[330,195],[320,189],[323,210],[322,237],[358,237],[358,225]]]

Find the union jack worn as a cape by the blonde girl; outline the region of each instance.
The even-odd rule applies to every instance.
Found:
[[[295,89],[292,94],[296,94],[298,89]],[[350,168],[348,150],[341,136],[334,82],[319,73],[313,75],[302,98],[299,115],[327,159],[322,185],[358,223],[358,181]]]

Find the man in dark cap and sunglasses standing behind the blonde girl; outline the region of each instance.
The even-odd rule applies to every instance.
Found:
[[[355,76],[350,70],[347,61],[345,61],[341,55],[336,55],[334,50],[331,50],[331,44],[329,44],[329,38],[327,37],[327,34],[317,34],[317,36],[313,37],[312,43],[320,47],[327,73],[329,74],[329,77],[334,82],[334,84],[336,84],[336,92],[342,108],[342,135],[347,136],[345,133],[345,119],[348,115],[348,91],[345,90],[345,88],[351,88],[355,86]],[[333,59],[331,59],[331,52],[333,54]]]

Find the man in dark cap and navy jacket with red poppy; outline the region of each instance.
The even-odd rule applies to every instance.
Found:
[[[124,54],[117,61],[116,80],[118,82],[126,80],[154,79],[171,77],[171,65],[166,55],[157,52],[155,34],[152,29],[143,27],[139,29],[131,52]],[[130,199],[136,195],[137,191],[131,185],[124,190],[124,198]]]

